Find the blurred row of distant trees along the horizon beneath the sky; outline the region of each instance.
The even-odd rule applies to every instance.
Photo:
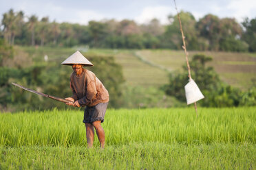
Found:
[[[235,19],[206,14],[199,21],[190,12],[180,12],[187,48],[200,51],[256,51],[256,17],[237,23]],[[10,9],[3,14],[0,36],[9,45],[73,47],[89,45],[113,49],[181,49],[182,38],[176,15],[169,24],[158,19],[147,24],[114,19],[89,21],[87,25],[50,22],[49,17]]]

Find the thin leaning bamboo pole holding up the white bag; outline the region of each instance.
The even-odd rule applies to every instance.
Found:
[[[184,33],[183,33],[182,24],[181,24],[181,20],[180,20],[180,14],[178,12],[176,1],[175,0],[173,0],[173,1],[174,1],[175,9],[177,11],[178,21],[180,23],[180,32],[182,34],[182,42],[183,42],[182,49],[184,49],[184,52],[185,52],[185,55],[186,55],[186,66],[188,67],[189,80],[191,80],[192,77],[191,77],[191,71],[190,71],[190,66],[189,66],[189,53],[188,53],[188,51],[186,51],[186,42],[185,42],[185,36],[184,36]],[[194,107],[195,107],[196,117],[198,117],[198,108],[196,106],[196,102],[194,103]]]

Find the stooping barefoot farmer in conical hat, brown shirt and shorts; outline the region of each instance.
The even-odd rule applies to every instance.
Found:
[[[85,123],[88,147],[93,145],[95,128],[100,147],[104,148],[105,132],[101,123],[104,121],[109,101],[107,89],[92,71],[83,69],[83,66],[93,66],[93,64],[79,51],[76,51],[61,64],[72,66],[74,71],[70,76],[70,88],[73,95],[65,98],[70,100],[66,104],[74,107],[86,106],[83,123]]]

